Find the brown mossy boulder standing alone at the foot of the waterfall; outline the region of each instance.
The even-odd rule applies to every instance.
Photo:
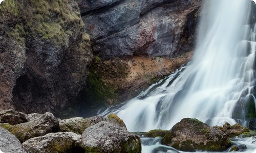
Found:
[[[175,124],[162,144],[182,151],[224,151],[232,145],[224,132],[193,118],[184,118]]]

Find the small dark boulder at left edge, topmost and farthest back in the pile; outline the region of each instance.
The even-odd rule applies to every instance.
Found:
[[[26,114],[14,110],[0,111],[0,123],[9,123],[11,125],[27,122]]]

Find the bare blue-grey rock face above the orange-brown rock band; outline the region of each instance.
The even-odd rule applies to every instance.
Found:
[[[174,57],[193,49],[200,0],[77,2],[93,51],[103,59]]]

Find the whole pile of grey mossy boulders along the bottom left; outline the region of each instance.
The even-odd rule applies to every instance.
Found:
[[[0,111],[0,134],[5,153],[141,152],[140,138],[115,114],[61,120],[49,112]]]

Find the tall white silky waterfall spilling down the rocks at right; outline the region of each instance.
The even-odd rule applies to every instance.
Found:
[[[246,125],[255,113],[256,28],[248,22],[250,3],[207,1],[191,62],[104,113],[116,113],[132,132],[170,130],[186,117],[211,126],[225,122]]]

